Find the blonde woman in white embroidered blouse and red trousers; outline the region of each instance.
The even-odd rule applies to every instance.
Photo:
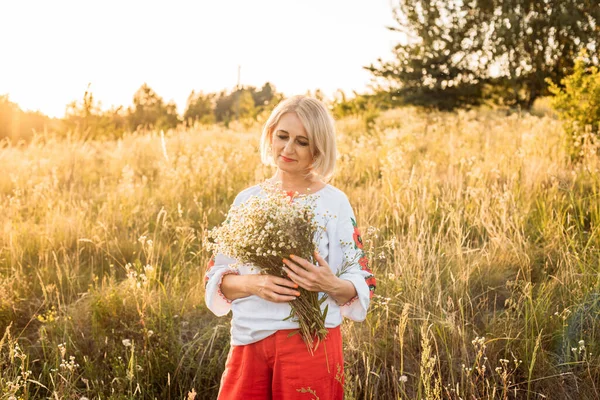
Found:
[[[326,233],[314,263],[293,255],[284,260],[289,279],[258,274],[251,266],[231,268],[235,260],[222,254],[211,260],[206,304],[217,316],[232,311],[232,346],[219,399],[342,399],[342,316],[365,319],[375,279],[348,198],[327,184],[336,159],[333,119],[316,99],[284,100],[265,123],[260,148],[263,163],[276,168],[268,182],[316,196],[316,215]],[[250,187],[234,205],[262,195],[261,185]],[[301,335],[291,335],[298,324],[286,318],[299,286],[328,295],[322,305],[328,306],[328,334],[313,355]]]

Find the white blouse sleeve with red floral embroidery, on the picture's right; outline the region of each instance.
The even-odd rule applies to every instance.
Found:
[[[369,302],[375,292],[375,277],[369,269],[369,261],[356,223],[354,211],[347,198],[341,205],[337,221],[337,236],[342,247],[341,279],[352,282],[357,295],[341,306],[341,313],[354,321],[367,316]]]

